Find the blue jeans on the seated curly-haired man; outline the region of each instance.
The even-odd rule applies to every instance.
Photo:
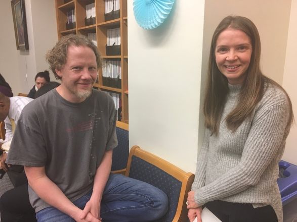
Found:
[[[73,201],[83,209],[90,200],[92,190]],[[168,209],[168,197],[160,189],[119,174],[110,174],[101,201],[103,222],[152,221],[163,216]],[[73,222],[74,219],[55,207],[47,207],[36,213],[38,222]]]

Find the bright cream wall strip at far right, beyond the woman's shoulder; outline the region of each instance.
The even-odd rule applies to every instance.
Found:
[[[296,51],[297,51],[297,0],[292,0],[290,24],[288,32],[288,42],[286,50],[286,60],[283,75],[283,87],[289,94],[293,105],[295,120],[297,121],[297,75],[296,75]],[[297,125],[295,124],[290,131],[286,141],[286,148],[283,160],[297,164]]]

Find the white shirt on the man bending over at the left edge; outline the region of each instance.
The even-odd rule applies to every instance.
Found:
[[[30,101],[33,100],[25,96],[13,96],[13,97],[10,97],[9,99],[10,99],[10,107],[9,107],[8,116],[4,120],[6,133],[5,133],[5,140],[3,142],[11,140],[13,136],[12,125],[9,118],[13,119],[15,122],[15,125],[17,125],[23,108],[25,107],[25,105],[27,105]]]

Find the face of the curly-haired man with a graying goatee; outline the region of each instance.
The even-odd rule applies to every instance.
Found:
[[[62,78],[57,91],[70,102],[82,102],[91,95],[97,78],[95,53],[87,46],[70,45],[66,61],[61,70],[56,70]]]

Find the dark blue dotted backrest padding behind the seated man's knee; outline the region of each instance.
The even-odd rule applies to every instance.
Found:
[[[167,194],[168,212],[156,221],[171,222],[177,211],[182,182],[137,156],[132,156],[129,177],[149,183]]]

